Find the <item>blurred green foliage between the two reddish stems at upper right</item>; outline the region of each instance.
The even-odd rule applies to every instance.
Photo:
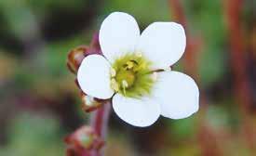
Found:
[[[199,73],[204,86],[217,83],[227,71],[226,34],[222,1],[189,1],[184,3],[195,36],[202,37]]]

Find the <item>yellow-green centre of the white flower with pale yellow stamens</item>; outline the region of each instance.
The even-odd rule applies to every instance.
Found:
[[[139,54],[116,58],[111,70],[111,87],[125,97],[150,94],[154,84],[151,62]]]

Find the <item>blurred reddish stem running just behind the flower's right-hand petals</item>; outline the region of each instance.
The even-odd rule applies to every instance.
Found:
[[[192,37],[187,26],[187,20],[183,11],[183,7],[180,0],[169,0],[169,8],[173,15],[174,20],[178,21],[185,27],[186,37],[187,37],[187,46],[186,52],[184,55],[184,70],[190,75],[193,75],[196,82],[200,82],[198,74],[198,50],[201,46],[201,42],[198,38]],[[200,103],[203,104],[200,106],[200,111],[203,116],[207,109],[206,97],[204,93],[200,93]],[[201,119],[200,130],[198,134],[198,140],[202,147],[203,155],[222,155],[221,150],[219,149],[218,143],[216,141],[209,142],[209,138],[215,138],[214,133],[211,132],[204,118]]]

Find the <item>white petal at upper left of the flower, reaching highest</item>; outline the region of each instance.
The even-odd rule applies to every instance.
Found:
[[[139,26],[127,13],[114,12],[101,24],[101,50],[103,55],[112,62],[123,53],[133,52],[139,38]]]

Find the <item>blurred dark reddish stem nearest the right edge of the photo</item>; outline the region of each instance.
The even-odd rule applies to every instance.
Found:
[[[243,0],[226,0],[224,4],[227,19],[227,28],[230,41],[230,55],[232,71],[235,76],[234,86],[236,100],[239,104],[242,117],[244,134],[247,138],[249,147],[255,146],[255,134],[249,123],[249,107],[251,106],[251,92],[249,89],[249,77],[247,74],[247,61],[245,56],[245,45],[243,40],[242,23],[240,15],[243,7]]]

